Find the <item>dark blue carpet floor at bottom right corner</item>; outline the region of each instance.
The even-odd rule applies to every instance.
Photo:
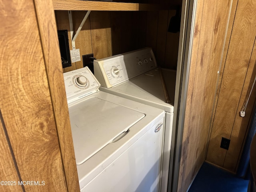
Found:
[[[204,163],[188,192],[247,192],[249,180]]]

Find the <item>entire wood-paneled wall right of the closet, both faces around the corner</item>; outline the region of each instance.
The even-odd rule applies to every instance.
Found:
[[[185,192],[206,159],[236,172],[256,98],[256,2],[198,0],[178,191]],[[222,137],[231,140],[220,148]],[[206,157],[207,154],[207,157]]]

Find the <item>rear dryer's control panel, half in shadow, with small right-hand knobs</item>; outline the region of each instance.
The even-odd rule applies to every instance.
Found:
[[[152,48],[94,60],[94,75],[101,86],[110,88],[157,67]]]

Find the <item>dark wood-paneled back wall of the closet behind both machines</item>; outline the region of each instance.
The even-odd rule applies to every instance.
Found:
[[[72,11],[76,32],[86,11]],[[168,26],[176,10],[169,11],[92,11],[78,38],[76,48],[81,57],[93,53],[96,59],[121,54],[144,47],[152,47],[158,65],[176,69],[179,32],[168,32]],[[71,46],[68,11],[56,11],[58,30],[68,30]],[[82,68],[82,60],[64,68],[64,72]]]

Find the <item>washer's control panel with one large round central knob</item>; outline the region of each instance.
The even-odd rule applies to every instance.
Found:
[[[100,83],[88,67],[63,74],[68,104],[99,91]]]

